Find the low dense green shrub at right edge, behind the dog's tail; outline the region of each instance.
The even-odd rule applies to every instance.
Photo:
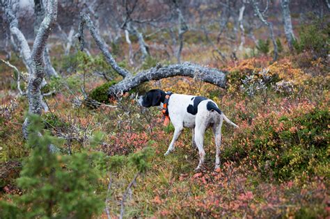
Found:
[[[264,177],[279,180],[329,175],[329,120],[329,110],[319,108],[299,116],[267,117],[237,136],[223,156],[237,161],[249,157]]]

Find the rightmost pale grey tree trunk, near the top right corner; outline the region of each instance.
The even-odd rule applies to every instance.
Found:
[[[292,51],[294,33],[292,31],[292,22],[291,22],[289,3],[290,3],[290,0],[281,0],[285,38],[286,38],[286,40],[288,40],[288,46],[289,46],[290,51]]]

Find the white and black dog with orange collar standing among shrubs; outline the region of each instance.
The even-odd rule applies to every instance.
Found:
[[[222,122],[225,120],[236,128],[238,126],[220,111],[216,103],[205,97],[171,94],[170,92],[166,93],[163,90],[155,89],[149,90],[146,95],[140,97],[139,104],[144,107],[161,106],[163,107],[164,115],[167,114],[171,119],[175,131],[164,155],[168,155],[173,151],[174,143],[178,140],[184,127],[192,129],[192,142],[194,146],[197,146],[200,156],[196,170],[202,167],[205,158],[203,149],[205,130],[208,127],[212,127],[217,146],[215,169],[219,168]]]

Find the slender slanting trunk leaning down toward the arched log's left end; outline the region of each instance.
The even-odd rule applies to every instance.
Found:
[[[95,26],[91,20],[91,17],[89,17],[86,14],[81,14],[81,23],[79,26],[79,41],[81,42],[81,47],[84,48],[84,26],[87,26],[88,30],[91,32],[91,35],[93,36],[97,46],[101,49],[103,55],[107,59],[107,62],[111,67],[113,67],[113,70],[118,72],[123,78],[127,76],[132,76],[130,72],[123,69],[122,67],[119,67],[119,65],[116,63],[116,60],[113,58],[111,53],[109,52],[109,46],[106,42],[100,37],[100,33],[95,29]]]

